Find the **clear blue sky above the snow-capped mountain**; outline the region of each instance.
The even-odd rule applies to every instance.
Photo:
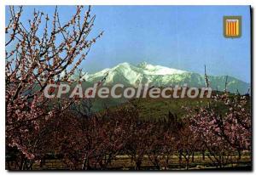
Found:
[[[53,14],[51,6],[26,6],[23,19],[33,8]],[[70,19],[73,6],[60,6],[61,21]],[[90,73],[122,62],[146,61],[175,69],[214,76],[235,76],[250,82],[249,6],[93,6],[92,35],[104,35],[81,65]],[[223,16],[241,15],[241,38],[223,36]],[[6,15],[9,19],[9,14]]]

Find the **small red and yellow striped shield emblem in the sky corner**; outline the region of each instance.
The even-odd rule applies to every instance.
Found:
[[[241,16],[224,16],[224,37],[241,37]]]

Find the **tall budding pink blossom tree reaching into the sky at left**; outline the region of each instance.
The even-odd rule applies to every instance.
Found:
[[[62,100],[60,108],[59,100],[44,98],[44,88],[49,83],[74,82],[70,77],[102,33],[89,38],[96,19],[90,7],[78,6],[66,22],[60,20],[57,8],[52,17],[34,10],[28,25],[21,21],[22,12],[22,7],[9,7],[5,28],[6,144],[32,160],[36,144],[32,138],[74,101]]]

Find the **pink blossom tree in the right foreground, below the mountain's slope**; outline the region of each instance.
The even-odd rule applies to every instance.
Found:
[[[226,110],[220,112],[218,104]],[[251,145],[251,112],[247,108],[248,99],[245,96],[230,97],[224,93],[215,98],[207,107],[201,107],[197,112],[190,110],[190,129],[197,138],[201,138],[207,149],[208,158],[217,167],[224,167],[232,161],[234,152],[241,159],[241,151],[249,150]]]

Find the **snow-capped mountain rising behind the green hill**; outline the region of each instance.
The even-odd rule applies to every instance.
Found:
[[[104,82],[107,86],[122,83],[127,87],[137,87],[139,83],[149,83],[150,86],[166,87],[174,85],[183,86],[184,83],[187,83],[189,87],[205,87],[203,75],[161,65],[150,65],[145,62],[139,65],[131,65],[125,62],[113,68],[98,71],[95,74],[87,74],[84,76],[84,79],[86,82],[94,83],[101,81],[107,74],[108,76]],[[225,76],[208,77],[212,89],[224,90]],[[250,84],[242,82],[235,77],[228,76],[227,88],[232,93],[236,93],[237,90],[240,93],[247,93]]]

